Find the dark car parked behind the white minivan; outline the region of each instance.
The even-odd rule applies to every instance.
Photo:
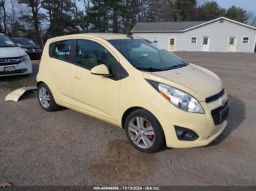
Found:
[[[21,48],[23,48],[29,57],[33,60],[38,60],[42,55],[42,47],[38,46],[31,39],[13,37],[13,41]]]

